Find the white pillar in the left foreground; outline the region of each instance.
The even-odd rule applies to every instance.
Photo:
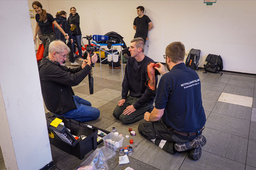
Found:
[[[27,1],[1,0],[0,146],[7,170],[52,161]]]

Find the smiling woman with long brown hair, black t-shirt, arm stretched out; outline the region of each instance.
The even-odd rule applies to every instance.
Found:
[[[46,13],[45,9],[42,9],[43,6],[40,2],[34,1],[32,3],[32,7],[36,12],[36,17],[35,17],[36,29],[35,29],[34,42],[36,42],[36,36],[38,34],[38,31],[41,29],[43,47],[45,48],[45,51],[43,52],[43,57],[46,57],[48,56],[49,44],[55,40],[52,24],[54,24],[59,29],[59,31],[61,31],[61,33],[65,36],[65,39],[69,39],[69,36],[66,34],[66,32],[63,31],[63,29],[59,26],[59,24],[54,20],[52,15]]]

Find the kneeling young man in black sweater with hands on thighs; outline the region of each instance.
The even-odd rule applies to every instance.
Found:
[[[122,99],[113,111],[113,116],[123,124],[130,124],[143,119],[144,113],[152,107],[156,90],[145,85],[147,81],[147,65],[154,62],[144,54],[145,43],[140,37],[131,40],[122,83]],[[157,76],[155,77],[157,84]],[[128,94],[128,92],[130,92]]]

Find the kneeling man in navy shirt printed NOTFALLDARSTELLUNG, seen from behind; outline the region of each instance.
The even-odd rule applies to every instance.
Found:
[[[157,63],[163,76],[158,85],[155,108],[145,112],[138,132],[171,154],[189,151],[198,160],[206,144],[202,130],[206,122],[202,106],[201,83],[195,70],[183,63],[185,47],[173,42],[166,47],[164,59],[169,70]]]

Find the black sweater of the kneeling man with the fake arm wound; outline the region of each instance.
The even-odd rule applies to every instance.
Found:
[[[126,99],[128,91],[132,97],[140,99],[133,105],[135,109],[139,109],[145,104],[153,104],[156,96],[156,91],[152,92],[145,82],[148,79],[147,65],[154,62],[151,58],[145,56],[140,62],[133,57],[129,57],[125,67],[125,77],[122,83],[122,99]],[[157,85],[157,76],[156,76]]]

